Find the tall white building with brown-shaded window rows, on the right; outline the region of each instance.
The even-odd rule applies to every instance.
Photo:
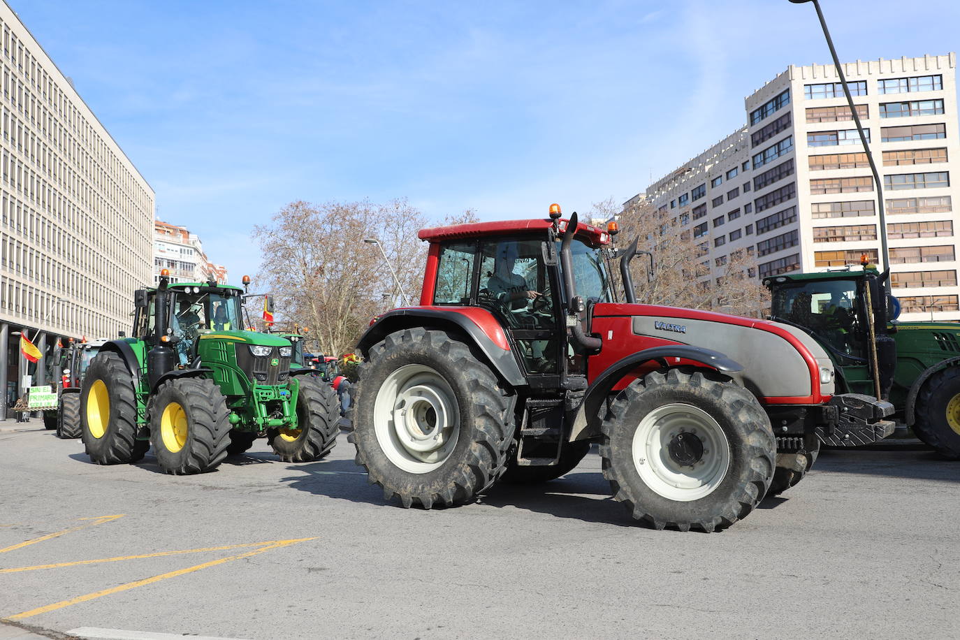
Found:
[[[955,67],[952,53],[844,64],[884,182],[903,320],[960,320]],[[706,251],[703,279],[736,250],[757,278],[877,262],[876,185],[833,65],[791,65],[745,107],[746,126],[642,194]]]

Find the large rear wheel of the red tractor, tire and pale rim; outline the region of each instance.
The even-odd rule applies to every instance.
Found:
[[[460,505],[502,475],[514,398],[460,338],[422,328],[390,334],[371,347],[359,378],[349,440],[387,500]]]

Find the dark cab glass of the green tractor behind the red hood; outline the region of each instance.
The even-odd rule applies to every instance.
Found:
[[[856,280],[811,280],[773,290],[774,320],[786,320],[812,331],[840,353],[865,357],[857,337],[864,321],[858,312]]]

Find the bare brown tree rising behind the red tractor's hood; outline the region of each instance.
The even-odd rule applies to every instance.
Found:
[[[649,279],[646,256],[637,256],[631,264],[637,300],[749,317],[759,317],[766,306],[766,292],[756,281],[756,262],[746,250],[734,250],[711,265],[706,238],[693,238],[689,229],[681,229],[681,220],[646,201],[624,209],[610,198],[594,202],[589,215],[603,220],[617,217],[618,244],[625,247],[639,238],[637,248],[654,254]]]

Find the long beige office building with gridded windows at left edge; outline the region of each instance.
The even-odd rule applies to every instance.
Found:
[[[0,3],[0,419],[42,384],[58,339],[130,330],[150,282],[154,191],[6,3]],[[20,356],[26,332],[44,358]],[[33,370],[36,369],[36,370]]]

